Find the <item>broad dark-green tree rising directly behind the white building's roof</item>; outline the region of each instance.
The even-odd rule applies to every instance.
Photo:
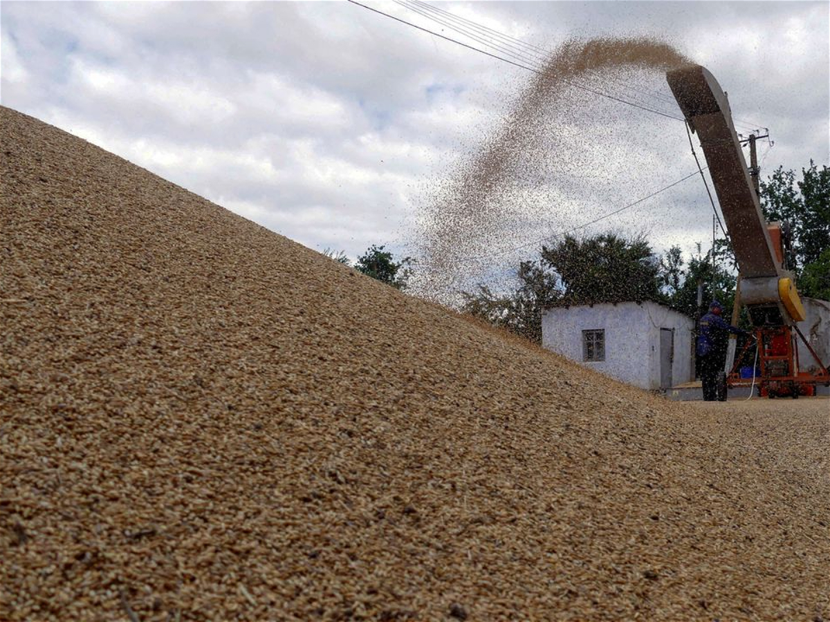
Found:
[[[542,259],[559,275],[564,290],[559,304],[661,299],[660,262],[643,236],[565,236],[555,246],[544,246]]]

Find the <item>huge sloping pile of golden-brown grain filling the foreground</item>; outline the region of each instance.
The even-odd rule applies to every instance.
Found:
[[[830,618],[825,415],[687,416],[0,119],[0,619]]]

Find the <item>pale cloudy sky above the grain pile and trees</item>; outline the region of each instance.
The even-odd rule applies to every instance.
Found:
[[[366,3],[483,47],[422,5]],[[491,44],[508,41],[500,35],[544,50],[573,37],[671,43],[729,92],[739,131],[769,127],[774,147],[759,143],[765,173],[799,169],[810,158],[830,163],[828,6],[432,4],[493,29],[484,36]],[[413,252],[424,206],[497,131],[533,78],[348,2],[4,1],[0,12],[3,105],[304,245],[352,257],[373,243]],[[662,75],[626,80],[597,75],[584,84],[679,114]],[[552,157],[579,167],[560,166],[559,177],[540,182],[536,200],[550,202],[549,218],[540,222],[537,208],[535,221],[501,236],[494,247],[529,245],[494,264],[532,255],[536,238],[696,170],[680,121],[584,92],[578,108],[571,117],[560,109],[549,125],[563,137]],[[657,250],[675,243],[691,250],[711,236],[706,190],[692,177],[583,231],[608,229],[645,231]]]

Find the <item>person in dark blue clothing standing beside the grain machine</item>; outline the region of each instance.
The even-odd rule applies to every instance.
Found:
[[[703,380],[704,401],[726,401],[726,349],[729,333],[749,334],[736,326],[726,323],[724,308],[717,300],[712,300],[709,313],[701,318],[697,331],[697,357],[701,362],[701,380]]]

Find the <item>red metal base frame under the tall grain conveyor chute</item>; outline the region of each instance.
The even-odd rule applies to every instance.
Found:
[[[813,355],[813,359],[818,363],[818,372],[801,371],[796,336],[801,338],[810,354]],[[759,376],[755,377],[754,384],[758,386],[761,396],[813,396],[816,385],[830,385],[828,368],[818,359],[813,347],[797,326],[757,328],[755,338],[756,342],[748,341],[741,350],[740,356],[735,357],[735,365],[726,379],[728,386],[752,386],[753,379],[740,377],[739,370],[754,343],[758,344],[757,364],[760,372]]]

